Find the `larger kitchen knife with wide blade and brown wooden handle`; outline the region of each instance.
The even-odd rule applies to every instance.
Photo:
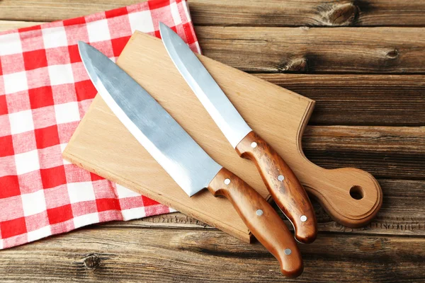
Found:
[[[137,141],[191,197],[205,187],[232,202],[251,233],[279,261],[283,275],[303,265],[297,243],[266,200],[244,180],[216,163],[152,96],[108,57],[84,42],[79,52],[103,100]]]

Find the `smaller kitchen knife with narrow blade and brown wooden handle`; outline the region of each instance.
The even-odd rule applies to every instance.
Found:
[[[239,156],[254,161],[261,178],[280,210],[292,222],[295,238],[312,243],[317,221],[310,199],[287,163],[261,139],[227,98],[196,54],[164,23],[162,42],[171,60]]]

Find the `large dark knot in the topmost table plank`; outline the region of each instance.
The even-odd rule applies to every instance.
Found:
[[[323,25],[347,26],[356,23],[359,8],[351,2],[324,4],[319,6],[319,15]]]

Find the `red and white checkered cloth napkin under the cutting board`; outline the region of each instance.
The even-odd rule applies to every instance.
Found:
[[[159,21],[200,52],[185,0],[0,33],[0,249],[172,211],[62,159],[96,95],[78,40],[116,59],[135,30],[159,37]]]

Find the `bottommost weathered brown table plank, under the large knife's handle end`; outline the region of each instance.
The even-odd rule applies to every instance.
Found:
[[[259,243],[246,244],[215,229],[126,224],[2,250],[1,281],[292,282]],[[425,282],[423,238],[319,233],[300,249],[305,272],[297,282]]]

